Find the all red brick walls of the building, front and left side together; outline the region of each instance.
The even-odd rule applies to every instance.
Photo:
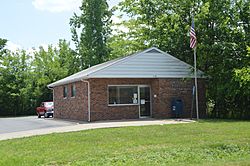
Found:
[[[184,103],[182,118],[190,118],[192,102],[191,79],[89,79],[91,121],[139,118],[139,106],[108,106],[108,85],[149,85],[151,87],[152,117],[171,118],[171,101],[180,98]],[[198,81],[199,111],[205,117],[205,81]],[[68,84],[68,95],[71,95]],[[55,118],[87,121],[87,84],[76,83],[76,97],[63,99],[63,86],[54,88]],[[156,95],[156,97],[154,97]],[[193,117],[195,117],[195,112]]]

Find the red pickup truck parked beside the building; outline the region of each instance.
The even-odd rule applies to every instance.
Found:
[[[44,116],[44,118],[48,118],[54,115],[54,103],[52,101],[42,102],[40,107],[36,108],[36,113],[38,118]]]

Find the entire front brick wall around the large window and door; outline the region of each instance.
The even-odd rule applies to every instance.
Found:
[[[191,79],[90,79],[92,121],[139,118],[139,106],[108,106],[108,85],[149,85],[151,87],[152,117],[171,118],[173,98],[183,100],[184,114],[181,117],[191,117],[193,87]],[[199,80],[198,85],[200,115],[205,117],[204,80]],[[193,113],[193,117],[195,115]]]

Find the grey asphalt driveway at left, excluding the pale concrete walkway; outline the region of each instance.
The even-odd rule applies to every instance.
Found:
[[[53,120],[52,118],[37,118],[37,116],[0,118],[0,134],[29,131],[36,129],[46,129],[64,127],[76,123],[68,121]]]

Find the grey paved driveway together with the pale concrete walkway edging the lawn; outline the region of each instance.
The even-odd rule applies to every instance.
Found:
[[[44,135],[50,133],[63,133],[72,131],[81,131],[98,128],[126,127],[126,126],[147,126],[147,125],[165,125],[190,123],[192,120],[121,120],[121,121],[103,121],[91,123],[76,123],[54,119],[38,119],[36,117],[23,118],[0,118],[0,141],[12,138],[22,138],[34,135]],[[2,132],[2,133],[1,133]]]

